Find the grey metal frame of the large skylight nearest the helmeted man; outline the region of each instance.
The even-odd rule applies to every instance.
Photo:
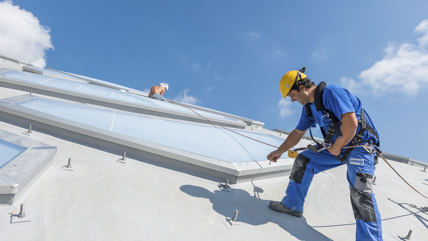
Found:
[[[133,157],[155,165],[166,165],[172,169],[188,171],[215,180],[229,179],[231,183],[250,178],[273,178],[276,175],[285,175],[291,172],[294,163],[291,158],[282,159],[271,166],[269,166],[268,160],[230,163],[88,126],[14,104],[30,98],[33,96],[22,95],[0,100],[2,102],[0,103],[0,111],[3,112],[0,118],[6,122],[13,120],[22,125],[31,121],[35,130],[37,128],[46,133],[73,138],[98,148],[107,149],[110,152],[126,151]],[[199,123],[195,123],[195,125],[209,126]]]

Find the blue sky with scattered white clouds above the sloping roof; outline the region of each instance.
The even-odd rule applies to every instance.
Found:
[[[168,83],[166,98],[293,130],[301,106],[282,100],[279,80],[306,66],[315,83],[356,93],[380,131],[383,151],[428,161],[428,1],[13,4],[21,10],[0,30],[16,29],[12,19],[22,9],[31,12],[42,24],[34,35],[43,36],[33,45],[45,53],[48,68],[139,90]],[[20,34],[8,37],[27,38]],[[31,61],[33,48],[23,42],[22,48],[0,45],[0,53]]]

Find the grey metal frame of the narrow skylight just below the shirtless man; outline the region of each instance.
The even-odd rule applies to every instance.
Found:
[[[9,71],[12,71],[12,69],[11,70],[1,69],[0,73],[9,72]],[[96,95],[81,93],[73,90],[66,90],[62,88],[51,87],[43,84],[32,83],[32,82],[19,80],[11,77],[5,77],[5,76],[0,76],[0,84],[1,82],[7,83],[6,85],[3,84],[4,87],[15,88],[15,89],[20,89],[25,91],[32,90],[34,93],[40,93],[43,95],[59,97],[62,99],[68,99],[68,100],[73,100],[77,102],[86,101],[87,103],[93,103],[95,105],[116,108],[120,110],[134,112],[134,113],[141,113],[141,111],[143,111],[145,114],[150,114],[150,115],[159,116],[159,117],[168,117],[172,119],[185,120],[185,121],[196,121],[200,123],[210,123],[209,121],[206,121],[204,118],[199,117],[197,114],[194,114],[193,112],[190,112],[190,111],[189,113],[186,113],[186,112],[168,110],[166,108],[157,108],[149,105],[142,105],[139,103],[127,102],[127,101],[122,101],[118,99],[110,99],[102,96],[96,96]],[[219,119],[216,117],[208,117],[208,116],[206,118],[226,127],[244,129],[247,126],[247,124],[241,120],[233,121],[233,120]]]

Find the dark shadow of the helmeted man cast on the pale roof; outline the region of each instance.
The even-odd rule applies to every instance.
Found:
[[[232,196],[224,193],[226,191],[215,190],[211,192],[203,187],[193,185],[183,185],[180,190],[193,197],[209,199],[213,204],[214,211],[224,217],[233,217],[235,210],[238,210],[238,221],[243,223],[256,226],[272,222],[300,240],[332,241],[332,239],[309,226],[304,214],[303,217],[299,218],[271,210],[268,207],[270,200],[260,199],[256,195],[263,192],[260,187],[254,188],[254,196],[245,190],[238,189],[235,196]]]

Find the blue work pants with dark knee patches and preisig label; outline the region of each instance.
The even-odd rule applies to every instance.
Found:
[[[346,177],[357,224],[357,241],[383,240],[380,214],[372,189],[372,177],[376,169],[374,162],[377,155],[375,146],[371,147],[354,148],[346,160],[348,166]],[[342,150],[342,154],[345,150]],[[285,191],[286,196],[281,201],[282,204],[293,211],[303,212],[303,203],[314,175],[344,164],[345,162],[340,163],[327,150],[319,153],[309,149],[303,151],[294,160],[290,182]]]

